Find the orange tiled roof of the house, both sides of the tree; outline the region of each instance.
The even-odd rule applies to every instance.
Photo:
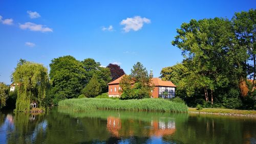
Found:
[[[119,84],[120,80],[122,79],[124,75],[122,75],[121,77],[119,77],[118,79],[108,83],[108,85],[111,84]],[[162,81],[159,78],[152,78],[152,82],[154,83],[155,86],[168,86],[168,87],[176,87],[176,85],[174,85],[171,81]]]

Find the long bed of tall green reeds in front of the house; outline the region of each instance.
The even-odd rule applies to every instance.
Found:
[[[183,103],[167,101],[164,99],[141,100],[113,100],[113,99],[69,99],[58,103],[60,109],[73,111],[86,111],[93,109],[103,110],[135,110],[135,111],[164,111],[187,112],[187,106]]]

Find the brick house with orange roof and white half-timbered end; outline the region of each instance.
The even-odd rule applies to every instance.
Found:
[[[124,75],[123,75],[124,76]],[[109,97],[120,97],[122,94],[120,90],[122,89],[119,86],[119,82],[122,79],[120,78],[108,83],[109,85]],[[153,76],[152,76],[153,77]],[[176,86],[171,81],[162,81],[160,78],[151,78],[152,83],[155,85],[152,92],[151,98],[174,98],[175,97],[175,88]]]

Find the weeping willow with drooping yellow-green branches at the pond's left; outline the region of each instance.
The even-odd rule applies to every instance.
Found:
[[[18,93],[15,111],[30,110],[31,102],[36,102],[39,108],[44,107],[43,102],[49,89],[46,67],[27,61],[18,63],[12,77]]]

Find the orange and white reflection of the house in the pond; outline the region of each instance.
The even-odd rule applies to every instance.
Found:
[[[109,116],[107,117],[107,125],[106,128],[108,129],[108,131],[116,136],[116,137],[120,137],[120,136],[133,136],[135,134],[136,129],[138,129],[138,127],[136,126],[132,126],[130,128],[123,128],[122,127],[122,122],[121,119],[119,117],[113,117],[113,116]],[[136,121],[130,121],[129,123],[136,123]],[[146,125],[146,126],[145,126]],[[148,128],[148,125],[150,125],[150,129],[146,129]],[[123,129],[123,130],[122,130]],[[148,122],[148,124],[141,124],[141,129],[143,129],[142,133],[140,133],[140,136],[156,136],[156,137],[161,137],[164,135],[172,135],[175,133],[176,131],[176,126],[175,126],[175,121],[174,119],[169,119],[168,121],[161,121],[161,120],[152,120],[151,122]],[[128,131],[126,131],[128,130]],[[124,132],[125,131],[125,132]]]

